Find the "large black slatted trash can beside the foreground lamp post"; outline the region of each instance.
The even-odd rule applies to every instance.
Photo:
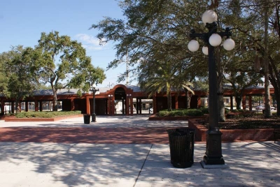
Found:
[[[195,129],[168,129],[167,133],[172,165],[179,168],[191,167],[193,165]]]

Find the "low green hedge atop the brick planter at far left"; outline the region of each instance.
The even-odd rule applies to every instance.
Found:
[[[69,115],[76,115],[81,114],[80,111],[59,111],[59,112],[18,112],[15,114],[17,118],[54,118],[54,117],[61,117],[61,116],[69,116]]]

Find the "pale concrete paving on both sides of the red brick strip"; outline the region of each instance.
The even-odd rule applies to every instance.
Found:
[[[167,128],[186,121],[147,121],[148,117],[97,117],[55,122],[3,122],[12,128]],[[106,122],[108,121],[108,122]],[[110,137],[109,137],[110,138]],[[205,144],[195,144],[195,163],[186,169],[170,163],[168,144],[85,144],[0,142],[0,186],[279,186],[280,144],[224,143],[228,169],[203,169]]]

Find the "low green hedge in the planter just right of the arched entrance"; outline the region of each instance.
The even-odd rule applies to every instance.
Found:
[[[159,112],[160,117],[195,117],[195,116],[203,116],[203,112],[201,110],[196,109],[179,109],[179,110],[161,110]]]

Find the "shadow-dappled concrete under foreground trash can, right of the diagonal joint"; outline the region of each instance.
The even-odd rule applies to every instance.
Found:
[[[180,169],[170,163],[168,144],[153,145],[137,186],[277,186],[280,182],[279,144],[224,143],[228,169],[203,169],[205,146],[195,144],[195,163]]]

